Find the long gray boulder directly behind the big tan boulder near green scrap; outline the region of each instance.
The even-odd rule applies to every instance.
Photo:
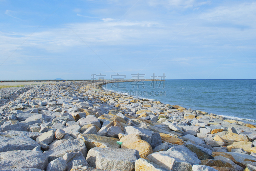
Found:
[[[133,133],[139,134],[141,139],[147,141],[152,146],[152,148],[162,144],[162,140],[158,132],[144,130],[135,126],[125,126],[124,133],[128,135]]]

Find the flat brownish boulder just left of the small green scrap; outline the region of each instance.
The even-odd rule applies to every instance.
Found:
[[[119,148],[116,143],[119,139],[113,137],[105,137],[95,134],[80,134],[78,138],[83,139],[86,145],[87,151],[94,147],[101,148]]]

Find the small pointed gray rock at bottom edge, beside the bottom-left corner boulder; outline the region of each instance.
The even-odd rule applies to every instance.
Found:
[[[66,171],[67,168],[66,161],[62,157],[59,157],[48,164],[46,171]]]

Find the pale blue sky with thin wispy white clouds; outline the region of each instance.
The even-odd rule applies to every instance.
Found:
[[[256,1],[0,0],[0,80],[100,73],[256,79]]]

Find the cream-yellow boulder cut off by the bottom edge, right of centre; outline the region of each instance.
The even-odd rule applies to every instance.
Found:
[[[138,159],[135,161],[135,171],[168,171],[168,170],[146,159]]]

